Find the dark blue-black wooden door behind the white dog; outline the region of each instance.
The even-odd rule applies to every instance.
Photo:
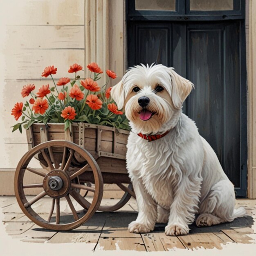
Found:
[[[240,4],[243,5],[243,1]],[[188,11],[187,6],[183,13],[195,12],[195,15],[177,16],[169,11],[166,16],[165,11],[161,16],[161,11],[157,11],[157,15],[152,16],[152,10],[151,14],[148,11],[144,14],[143,11],[134,13],[136,10],[132,8],[135,6],[128,5],[128,66],[162,63],[175,67],[178,74],[194,83],[195,90],[184,103],[183,112],[195,121],[200,135],[215,150],[235,185],[236,195],[246,197],[246,61],[242,6],[239,7],[241,16],[233,13],[233,17],[231,11],[226,10],[220,11],[219,18],[216,11],[204,11],[201,17],[200,11]],[[234,8],[238,9],[237,1]],[[176,1],[176,12],[177,9],[182,13],[179,1]],[[177,21],[177,17],[182,21]]]

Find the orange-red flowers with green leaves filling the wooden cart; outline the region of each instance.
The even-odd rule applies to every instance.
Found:
[[[99,86],[103,71],[97,63],[87,65],[90,70],[90,77],[81,79],[79,71],[83,67],[78,64],[70,66],[68,72],[74,74],[74,79],[62,77],[57,83],[54,75],[57,68],[54,66],[45,67],[43,77],[51,76],[52,86],[42,85],[38,92],[35,92],[35,85],[24,85],[21,90],[22,97],[28,97],[23,104],[17,102],[11,111],[16,121],[20,123],[12,126],[13,130],[20,130],[22,126],[28,129],[34,123],[64,123],[65,130],[70,128],[73,122],[84,122],[100,126],[110,126],[124,130],[130,130],[128,120],[123,112],[117,110],[117,106],[110,97],[111,87],[107,89],[110,79],[117,75],[111,70],[106,70],[107,83]]]

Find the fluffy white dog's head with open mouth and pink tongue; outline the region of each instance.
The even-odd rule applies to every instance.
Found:
[[[180,111],[193,84],[164,65],[131,67],[111,90],[136,131],[156,133]]]

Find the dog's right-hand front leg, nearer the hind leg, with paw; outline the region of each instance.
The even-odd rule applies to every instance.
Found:
[[[165,227],[167,236],[179,236],[189,233],[189,225],[195,220],[198,210],[202,178],[183,177],[177,186],[174,200],[170,207],[168,225]]]

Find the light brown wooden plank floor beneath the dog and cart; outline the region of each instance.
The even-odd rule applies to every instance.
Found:
[[[102,204],[114,204],[116,199],[103,199]],[[49,198],[43,198],[35,205],[38,213],[47,214]],[[222,249],[227,243],[255,243],[256,200],[237,200],[237,207],[244,206],[248,216],[231,223],[213,227],[198,228],[191,225],[189,235],[169,237],[164,234],[164,224],[157,224],[155,230],[148,234],[131,234],[127,231],[128,224],[137,217],[137,204],[131,199],[122,209],[116,212],[96,212],[94,216],[81,227],[72,231],[56,232],[43,229],[25,216],[15,197],[0,197],[0,207],[4,213],[6,232],[12,237],[24,242],[34,243],[89,243],[92,251],[99,250],[137,250],[137,251],[168,251],[175,248]],[[72,218],[67,215],[62,205],[62,218]],[[65,221],[65,219],[64,219]],[[231,245],[229,245],[231,246]]]

